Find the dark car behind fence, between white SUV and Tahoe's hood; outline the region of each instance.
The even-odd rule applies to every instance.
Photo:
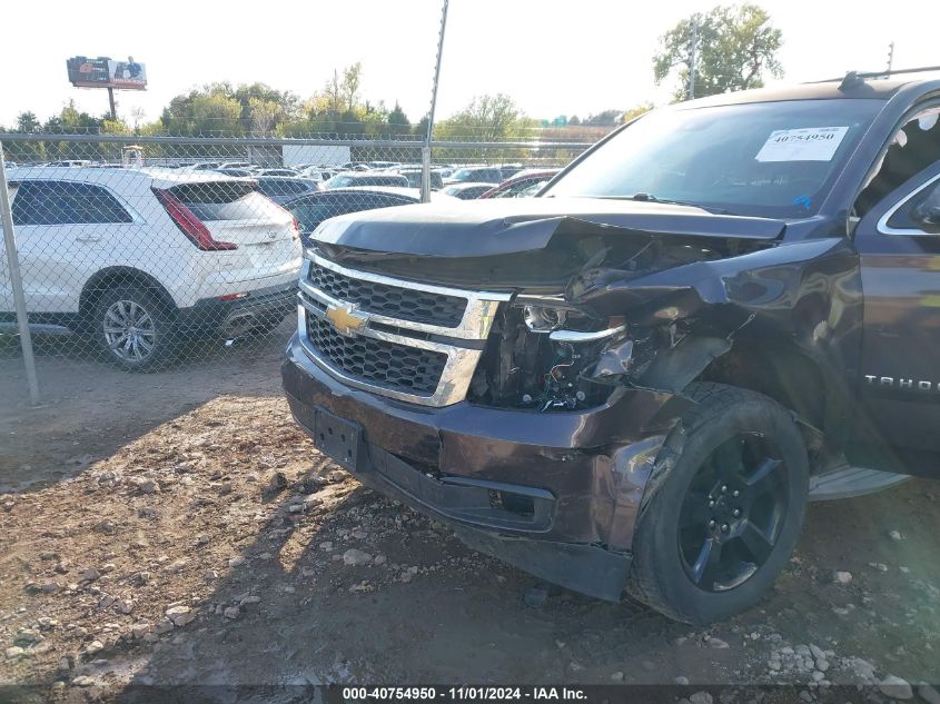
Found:
[[[432,202],[453,200],[439,194],[432,194],[431,199]],[[297,219],[300,238],[307,246],[310,244],[313,231],[329,218],[348,212],[407,206],[416,202],[420,202],[420,190],[416,188],[355,186],[307,194],[287,201],[284,207]]]

